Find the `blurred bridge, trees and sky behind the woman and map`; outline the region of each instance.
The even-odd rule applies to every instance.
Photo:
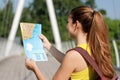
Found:
[[[37,80],[24,65],[20,22],[42,24],[42,33],[65,53],[75,47],[66,30],[67,17],[72,8],[80,5],[103,14],[109,28],[112,61],[120,76],[120,0],[0,0],[0,80]],[[51,80],[60,64],[46,53],[49,61],[37,64]]]

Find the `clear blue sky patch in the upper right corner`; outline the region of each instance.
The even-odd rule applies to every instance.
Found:
[[[97,7],[107,11],[107,16],[111,19],[120,20],[120,0],[95,0]]]

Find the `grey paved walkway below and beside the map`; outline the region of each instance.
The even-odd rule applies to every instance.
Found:
[[[46,62],[37,62],[37,65],[48,80],[52,80],[60,64],[51,55],[48,55],[48,59]],[[25,68],[24,61],[23,56],[12,56],[0,61],[0,80],[37,80],[34,73]]]

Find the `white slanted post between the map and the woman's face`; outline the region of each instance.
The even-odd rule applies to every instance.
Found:
[[[49,12],[49,17],[50,17],[50,22],[52,25],[52,31],[53,31],[53,36],[54,36],[56,47],[59,50],[62,50],[61,38],[59,34],[59,29],[58,29],[58,24],[57,24],[53,2],[52,0],[46,0],[46,4],[47,4],[48,12]]]

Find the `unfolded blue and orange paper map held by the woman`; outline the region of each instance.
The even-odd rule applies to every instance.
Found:
[[[44,51],[39,35],[41,34],[41,24],[20,23],[23,46],[26,57],[35,61],[47,61],[47,56]]]

